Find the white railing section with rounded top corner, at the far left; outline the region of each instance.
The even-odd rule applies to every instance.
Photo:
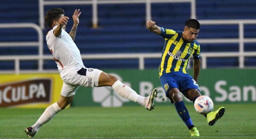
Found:
[[[34,23],[0,23],[0,28],[32,28],[37,31],[38,34],[38,41],[22,41],[22,42],[0,42],[0,47],[34,47],[38,46],[38,71],[42,72],[43,70],[43,33],[42,29],[34,24]],[[28,56],[24,56],[28,57]],[[0,60],[14,60],[15,61],[15,73],[18,74],[20,72],[20,56],[13,57],[13,56],[1,56]],[[31,59],[29,59],[31,60]],[[1,73],[1,72],[0,72]]]

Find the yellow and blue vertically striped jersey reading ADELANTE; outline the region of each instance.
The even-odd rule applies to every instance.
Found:
[[[182,38],[182,31],[161,28],[161,36],[164,37],[164,49],[159,65],[159,76],[170,72],[183,72],[188,74],[188,60],[193,55],[195,60],[200,59],[200,44],[186,42]]]

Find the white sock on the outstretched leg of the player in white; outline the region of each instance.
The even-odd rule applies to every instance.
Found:
[[[129,86],[124,85],[120,80],[117,80],[113,85],[112,88],[114,91],[123,98],[127,98],[128,100],[132,100],[142,106],[144,106],[143,101],[145,97],[138,95],[132,88]]]

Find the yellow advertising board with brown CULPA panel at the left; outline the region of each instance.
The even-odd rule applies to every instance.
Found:
[[[59,74],[0,74],[0,107],[46,108],[60,97]]]

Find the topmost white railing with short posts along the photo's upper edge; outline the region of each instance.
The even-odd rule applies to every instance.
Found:
[[[92,25],[98,26],[98,4],[146,4],[146,21],[151,20],[151,3],[190,3],[190,18],[196,19],[196,0],[39,0],[39,23],[44,29],[44,6],[45,5],[92,5]]]

